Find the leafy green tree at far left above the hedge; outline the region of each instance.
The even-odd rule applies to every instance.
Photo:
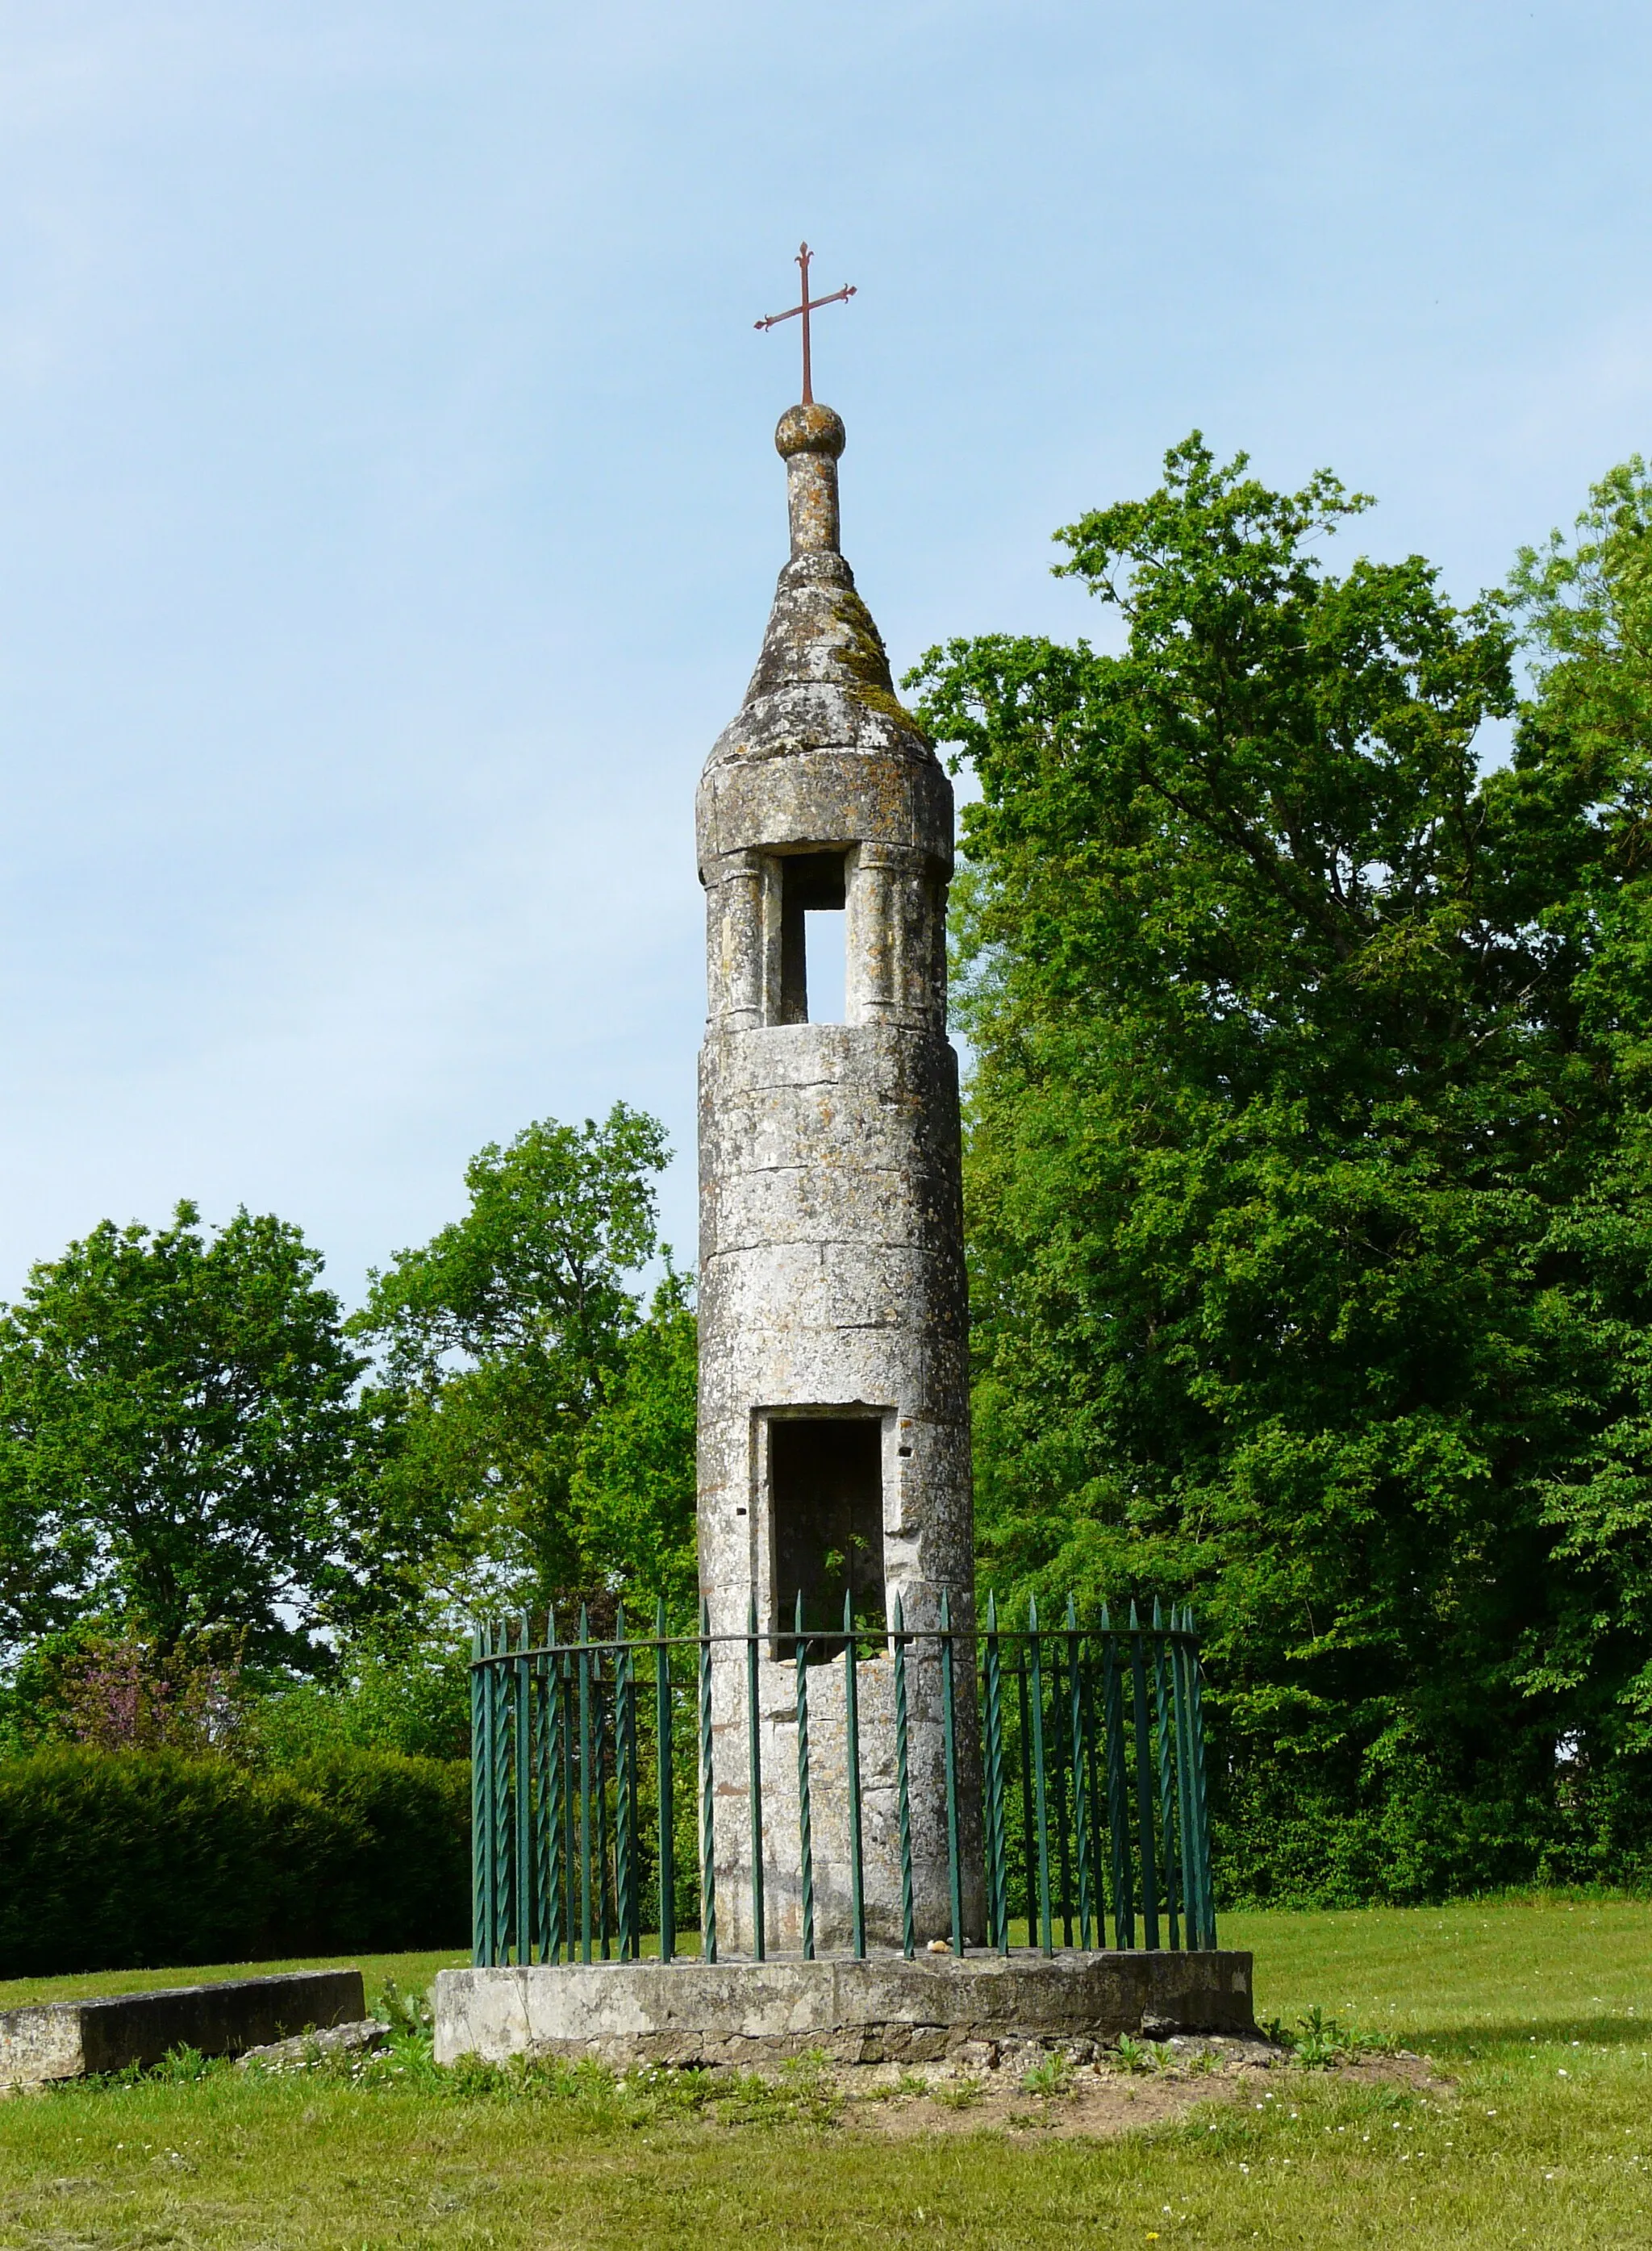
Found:
[[[297,1227],[101,1222],[0,1312],[0,1639],[101,1618],[313,1666],[371,1600],[365,1366]]]

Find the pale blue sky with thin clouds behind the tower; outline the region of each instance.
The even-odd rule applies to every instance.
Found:
[[[194,1195],[353,1299],[617,1096],[691,1258],[799,236],[898,669],[1085,630],[1049,531],[1195,423],[1467,599],[1652,450],[1650,65],[1611,0],[0,0],[0,1294]]]

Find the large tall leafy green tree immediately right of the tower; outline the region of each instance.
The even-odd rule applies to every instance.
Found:
[[[1634,491],[1614,522],[1643,556]],[[1582,588],[1627,588],[1627,549],[1526,565],[1535,630],[1569,594],[1587,651],[1481,777],[1506,612],[1452,608],[1418,556],[1335,576],[1319,547],[1362,506],[1195,434],[1157,493],[1058,533],[1119,653],[990,635],[914,675],[981,783],[959,984],[986,1576],[1191,1594],[1229,1868],[1339,1898],[1596,1866],[1589,1821],[1623,1866],[1638,1783],[1605,1817],[1575,1754],[1645,1661],[1623,1600],[1589,1621],[1652,1429],[1620,1098],[1645,734],[1616,646],[1575,671]]]

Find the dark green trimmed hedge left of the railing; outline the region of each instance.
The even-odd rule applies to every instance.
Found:
[[[470,1934],[470,1767],[333,1751],[0,1763],[0,1976],[392,1954]]]

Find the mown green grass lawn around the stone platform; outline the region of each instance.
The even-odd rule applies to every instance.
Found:
[[[603,2073],[466,2087],[412,2053],[401,2078],[362,2084],[68,2087],[0,2105],[0,2251],[1652,2244],[1652,1904],[1229,1916],[1222,1940],[1254,1947],[1260,2015],[1319,2006],[1400,2035],[1454,2091],[1292,2069],[1260,2107],[1213,2100],[1083,2143],[1038,2125],[887,2141],[806,2102],[689,2109]],[[439,1963],[362,1967],[371,1992]],[[0,1985],[0,2006],[133,1983]]]

